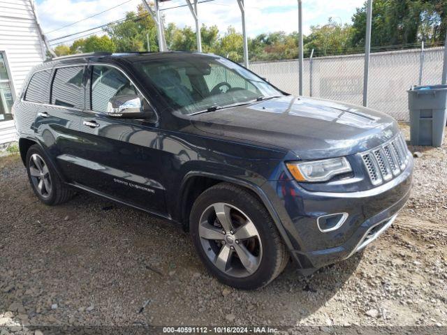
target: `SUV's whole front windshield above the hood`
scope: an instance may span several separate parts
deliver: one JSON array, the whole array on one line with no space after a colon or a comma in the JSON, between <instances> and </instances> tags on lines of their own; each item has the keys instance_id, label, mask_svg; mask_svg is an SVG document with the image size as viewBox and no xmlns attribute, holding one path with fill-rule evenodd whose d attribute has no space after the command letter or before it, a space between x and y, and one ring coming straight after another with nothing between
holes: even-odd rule
<instances>
[{"instance_id":1,"label":"SUV's whole front windshield above the hood","mask_svg":"<svg viewBox=\"0 0 447 335\"><path fill-rule=\"evenodd\" d=\"M133 65L182 114L283 96L268 82L228 59L191 56Z\"/></svg>"}]
</instances>

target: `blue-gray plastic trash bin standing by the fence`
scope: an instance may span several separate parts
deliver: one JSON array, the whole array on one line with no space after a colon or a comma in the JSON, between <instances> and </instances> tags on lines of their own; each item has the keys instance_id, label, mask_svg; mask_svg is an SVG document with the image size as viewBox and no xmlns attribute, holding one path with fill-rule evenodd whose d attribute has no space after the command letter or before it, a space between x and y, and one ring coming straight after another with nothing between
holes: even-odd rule
<instances>
[{"instance_id":1,"label":"blue-gray plastic trash bin standing by the fence","mask_svg":"<svg viewBox=\"0 0 447 335\"><path fill-rule=\"evenodd\" d=\"M415 86L407 92L411 144L441 147L447 121L447 85Z\"/></svg>"}]
</instances>

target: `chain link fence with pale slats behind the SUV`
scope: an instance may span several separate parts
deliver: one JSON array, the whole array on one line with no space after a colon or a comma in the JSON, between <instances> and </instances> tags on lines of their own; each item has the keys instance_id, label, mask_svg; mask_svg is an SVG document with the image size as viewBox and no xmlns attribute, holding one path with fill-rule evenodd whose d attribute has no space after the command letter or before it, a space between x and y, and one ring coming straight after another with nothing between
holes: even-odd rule
<instances>
[{"instance_id":1,"label":"chain link fence with pale slats behind the SUV","mask_svg":"<svg viewBox=\"0 0 447 335\"><path fill-rule=\"evenodd\" d=\"M375 52L369 61L368 107L409 121L406 90L440 84L444 47ZM364 54L304 60L303 94L362 104ZM422 72L420 68L422 66ZM290 94L298 94L298 60L256 62L250 69Z\"/></svg>"}]
</instances>

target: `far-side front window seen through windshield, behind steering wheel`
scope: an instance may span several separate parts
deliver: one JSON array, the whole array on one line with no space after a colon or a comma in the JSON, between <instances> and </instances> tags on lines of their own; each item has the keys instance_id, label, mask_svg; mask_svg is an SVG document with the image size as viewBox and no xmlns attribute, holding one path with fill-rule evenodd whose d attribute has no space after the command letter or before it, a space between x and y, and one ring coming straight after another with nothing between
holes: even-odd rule
<instances>
[{"instance_id":1,"label":"far-side front window seen through windshield, behind steering wheel","mask_svg":"<svg viewBox=\"0 0 447 335\"><path fill-rule=\"evenodd\" d=\"M224 89L248 89L254 93L258 92L253 84L244 80L240 75L217 64L211 64L210 74L204 75L203 79L210 91L217 87L218 84L228 83L229 86L222 85L222 87L225 87Z\"/></svg>"}]
</instances>

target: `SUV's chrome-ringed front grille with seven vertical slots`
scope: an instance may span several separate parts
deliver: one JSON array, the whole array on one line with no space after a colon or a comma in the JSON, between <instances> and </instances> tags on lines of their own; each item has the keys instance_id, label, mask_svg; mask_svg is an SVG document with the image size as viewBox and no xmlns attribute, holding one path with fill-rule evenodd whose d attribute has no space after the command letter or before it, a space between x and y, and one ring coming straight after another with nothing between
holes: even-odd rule
<instances>
[{"instance_id":1,"label":"SUV's chrome-ringed front grille with seven vertical slots","mask_svg":"<svg viewBox=\"0 0 447 335\"><path fill-rule=\"evenodd\" d=\"M409 162L409 151L402 135L380 147L361 154L369 180L374 186L383 184L400 174Z\"/></svg>"}]
</instances>

